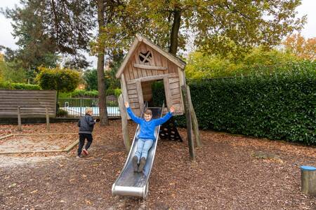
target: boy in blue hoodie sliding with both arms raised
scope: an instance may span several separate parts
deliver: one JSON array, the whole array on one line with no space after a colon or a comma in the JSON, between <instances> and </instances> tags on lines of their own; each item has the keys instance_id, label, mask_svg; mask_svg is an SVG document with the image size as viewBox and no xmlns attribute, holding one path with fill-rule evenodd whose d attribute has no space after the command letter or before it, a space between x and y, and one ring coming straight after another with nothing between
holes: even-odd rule
<instances>
[{"instance_id":1,"label":"boy in blue hoodie sliding with both arms raised","mask_svg":"<svg viewBox=\"0 0 316 210\"><path fill-rule=\"evenodd\" d=\"M134 172L143 172L143 169L146 164L146 159L148 155L148 151L152 147L154 140L154 129L158 125L162 125L166 123L174 112L174 107L171 106L169 113L167 113L163 118L158 118L152 120L152 111L150 109L146 109L144 113L144 119L138 118L134 115L131 107L129 107L129 103L125 102L125 107L131 119L140 125L140 133L138 134L138 142L137 142L137 150L136 154L133 157L133 169ZM139 165L138 165L139 164Z\"/></svg>"}]
</instances>

